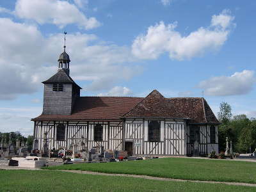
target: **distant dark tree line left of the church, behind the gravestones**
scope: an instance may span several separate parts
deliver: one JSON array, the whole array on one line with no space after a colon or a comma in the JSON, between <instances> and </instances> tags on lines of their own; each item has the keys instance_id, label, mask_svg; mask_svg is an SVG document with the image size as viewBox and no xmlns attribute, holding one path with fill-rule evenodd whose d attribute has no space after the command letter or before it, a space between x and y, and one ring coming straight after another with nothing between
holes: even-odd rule
<instances>
[{"instance_id":1,"label":"distant dark tree line left of the church, behind the gravestones","mask_svg":"<svg viewBox=\"0 0 256 192\"><path fill-rule=\"evenodd\" d=\"M10 142L11 139L11 142ZM0 132L0 143L13 143L16 144L16 140L23 141L28 143L28 147L32 148L33 146L33 136L22 136L19 131L16 132Z\"/></svg>"}]
</instances>

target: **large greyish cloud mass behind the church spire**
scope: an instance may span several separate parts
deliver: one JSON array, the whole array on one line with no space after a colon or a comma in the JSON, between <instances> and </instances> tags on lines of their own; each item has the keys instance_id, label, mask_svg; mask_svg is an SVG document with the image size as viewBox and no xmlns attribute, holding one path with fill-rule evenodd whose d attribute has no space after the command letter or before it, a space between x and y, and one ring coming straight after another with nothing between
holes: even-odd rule
<instances>
[{"instance_id":1,"label":"large greyish cloud mass behind the church spire","mask_svg":"<svg viewBox=\"0 0 256 192\"><path fill-rule=\"evenodd\" d=\"M45 37L36 26L4 18L0 18L0 26L0 99L36 92L42 87L40 82L57 71L63 34ZM67 52L70 74L75 80L86 80L86 90L108 90L141 70L131 64L134 58L129 47L102 42L95 35L68 34Z\"/></svg>"}]
</instances>

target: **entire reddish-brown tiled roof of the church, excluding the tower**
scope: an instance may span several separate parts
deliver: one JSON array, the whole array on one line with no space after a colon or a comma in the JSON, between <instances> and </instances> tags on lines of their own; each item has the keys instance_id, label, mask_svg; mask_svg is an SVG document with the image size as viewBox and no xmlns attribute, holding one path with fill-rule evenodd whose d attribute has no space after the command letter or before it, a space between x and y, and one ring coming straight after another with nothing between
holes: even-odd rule
<instances>
[{"instance_id":1,"label":"entire reddish-brown tiled roof of the church, excluding the tower","mask_svg":"<svg viewBox=\"0 0 256 192\"><path fill-rule=\"evenodd\" d=\"M219 124L202 97L78 97L72 115L40 115L32 120L120 120L120 118L185 118L189 123Z\"/></svg>"}]
</instances>

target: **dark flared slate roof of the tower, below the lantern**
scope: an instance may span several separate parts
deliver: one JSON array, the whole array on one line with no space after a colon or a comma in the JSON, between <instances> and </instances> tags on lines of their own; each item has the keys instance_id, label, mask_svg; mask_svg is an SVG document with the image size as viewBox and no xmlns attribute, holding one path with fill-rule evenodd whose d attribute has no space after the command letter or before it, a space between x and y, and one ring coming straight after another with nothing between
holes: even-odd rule
<instances>
[{"instance_id":1,"label":"dark flared slate roof of the tower, below the lantern","mask_svg":"<svg viewBox=\"0 0 256 192\"><path fill-rule=\"evenodd\" d=\"M75 83L75 81L70 76L68 76L68 74L65 72L65 70L58 70L58 72L56 74L54 74L54 76L47 79L46 81L43 81L42 83L44 83L44 84L46 84L46 83L72 83L75 86L77 86L79 89L81 89L81 87L79 85L77 85Z\"/></svg>"}]
</instances>

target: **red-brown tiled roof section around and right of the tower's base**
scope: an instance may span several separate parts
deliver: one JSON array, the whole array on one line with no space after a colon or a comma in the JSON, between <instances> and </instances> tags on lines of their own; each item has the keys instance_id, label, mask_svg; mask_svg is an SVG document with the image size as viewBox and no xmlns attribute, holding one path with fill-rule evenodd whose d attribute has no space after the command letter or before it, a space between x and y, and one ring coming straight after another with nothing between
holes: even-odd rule
<instances>
[{"instance_id":1,"label":"red-brown tiled roof section around and right of the tower's base","mask_svg":"<svg viewBox=\"0 0 256 192\"><path fill-rule=\"evenodd\" d=\"M40 115L33 120L120 120L143 97L78 97L72 115Z\"/></svg>"}]
</instances>

